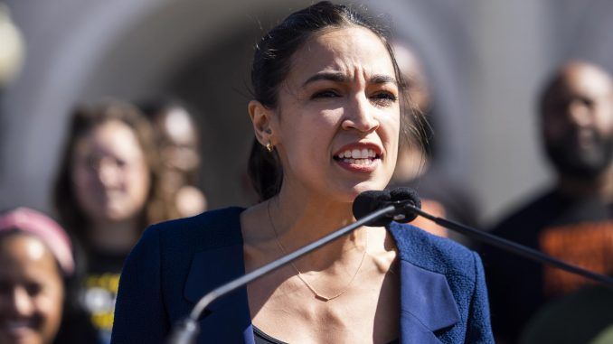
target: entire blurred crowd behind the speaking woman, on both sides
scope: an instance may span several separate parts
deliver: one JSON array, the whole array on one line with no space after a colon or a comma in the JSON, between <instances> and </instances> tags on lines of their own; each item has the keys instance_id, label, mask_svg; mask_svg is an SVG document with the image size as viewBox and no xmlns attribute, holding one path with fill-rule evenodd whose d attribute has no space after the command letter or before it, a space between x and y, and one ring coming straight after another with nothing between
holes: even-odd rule
<instances>
[{"instance_id":1,"label":"entire blurred crowd behind the speaking woman, on both sides","mask_svg":"<svg viewBox=\"0 0 613 344\"><path fill-rule=\"evenodd\" d=\"M394 50L408 106L442 120L427 61L408 42L394 42ZM537 110L555 183L486 229L613 276L610 72L564 63L543 85ZM207 209L197 117L175 100L75 106L53 188L56 211L15 205L0 215L0 343L108 343L121 268L143 230ZM402 143L390 187L411 186L426 211L478 227L471 194L439 171L436 127L416 125L426 139ZM498 342L613 342L611 289L425 219L415 224L480 251Z\"/></svg>"}]
</instances>

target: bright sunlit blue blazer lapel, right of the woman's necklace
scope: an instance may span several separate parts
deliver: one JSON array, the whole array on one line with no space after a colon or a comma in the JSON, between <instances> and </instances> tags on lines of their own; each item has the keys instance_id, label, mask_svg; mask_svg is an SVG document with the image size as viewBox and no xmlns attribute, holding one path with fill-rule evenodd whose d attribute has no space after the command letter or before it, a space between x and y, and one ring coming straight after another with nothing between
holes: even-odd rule
<instances>
[{"instance_id":1,"label":"bright sunlit blue blazer lapel, right of the woman's necklace","mask_svg":"<svg viewBox=\"0 0 613 344\"><path fill-rule=\"evenodd\" d=\"M433 332L459 320L445 276L401 260L401 342L440 343Z\"/></svg>"}]
</instances>

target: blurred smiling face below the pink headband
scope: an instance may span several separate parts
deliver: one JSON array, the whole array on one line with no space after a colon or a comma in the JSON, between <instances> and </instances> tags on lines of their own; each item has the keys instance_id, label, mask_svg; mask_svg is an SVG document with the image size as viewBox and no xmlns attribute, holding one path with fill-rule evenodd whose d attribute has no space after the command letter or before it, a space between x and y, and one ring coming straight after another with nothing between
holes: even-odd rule
<instances>
[{"instance_id":1,"label":"blurred smiling face below the pink headband","mask_svg":"<svg viewBox=\"0 0 613 344\"><path fill-rule=\"evenodd\" d=\"M59 268L39 239L0 239L0 343L51 343L63 300Z\"/></svg>"}]
</instances>

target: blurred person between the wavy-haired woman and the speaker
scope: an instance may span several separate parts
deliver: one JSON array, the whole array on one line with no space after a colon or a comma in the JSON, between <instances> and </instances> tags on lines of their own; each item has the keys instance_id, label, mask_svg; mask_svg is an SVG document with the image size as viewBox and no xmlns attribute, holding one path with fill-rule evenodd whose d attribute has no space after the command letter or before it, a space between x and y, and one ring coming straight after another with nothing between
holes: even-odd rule
<instances>
[{"instance_id":1,"label":"blurred person between the wavy-haired woman and the speaker","mask_svg":"<svg viewBox=\"0 0 613 344\"><path fill-rule=\"evenodd\" d=\"M200 135L190 111L176 101L150 101L139 107L156 132L162 163L160 184L173 211L169 216L186 218L203 212L206 198L198 188Z\"/></svg>"}]
</instances>

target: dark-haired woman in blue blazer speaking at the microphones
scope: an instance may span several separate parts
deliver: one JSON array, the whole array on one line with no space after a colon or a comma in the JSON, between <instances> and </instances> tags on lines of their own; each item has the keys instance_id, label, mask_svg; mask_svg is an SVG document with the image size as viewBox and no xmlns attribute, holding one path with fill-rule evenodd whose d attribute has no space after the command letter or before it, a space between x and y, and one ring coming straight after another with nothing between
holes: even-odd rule
<instances>
[{"instance_id":1,"label":"dark-haired woman in blue blazer speaking at the microphones","mask_svg":"<svg viewBox=\"0 0 613 344\"><path fill-rule=\"evenodd\" d=\"M376 26L328 2L291 14L259 42L252 82L262 202L149 228L114 342L162 342L204 293L353 222L354 198L390 181L402 82ZM400 224L359 228L212 303L200 325L202 343L493 341L478 256Z\"/></svg>"}]
</instances>

